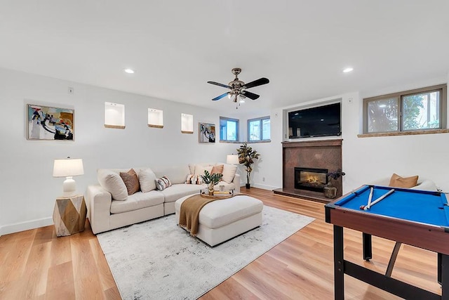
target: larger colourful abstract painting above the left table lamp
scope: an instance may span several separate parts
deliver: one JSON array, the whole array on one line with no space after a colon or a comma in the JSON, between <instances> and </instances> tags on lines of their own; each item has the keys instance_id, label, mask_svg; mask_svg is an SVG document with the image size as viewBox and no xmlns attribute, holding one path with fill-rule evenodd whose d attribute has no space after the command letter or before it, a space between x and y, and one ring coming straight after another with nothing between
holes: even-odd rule
<instances>
[{"instance_id":1,"label":"larger colourful abstract painting above the left table lamp","mask_svg":"<svg viewBox=\"0 0 449 300\"><path fill-rule=\"evenodd\" d=\"M27 140L74 140L74 110L27 104Z\"/></svg>"}]
</instances>

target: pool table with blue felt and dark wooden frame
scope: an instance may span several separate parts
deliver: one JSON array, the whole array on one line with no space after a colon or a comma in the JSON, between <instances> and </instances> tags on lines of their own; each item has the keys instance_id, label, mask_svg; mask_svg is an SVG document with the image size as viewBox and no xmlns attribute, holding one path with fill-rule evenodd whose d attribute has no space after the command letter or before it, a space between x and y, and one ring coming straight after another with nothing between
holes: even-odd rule
<instances>
[{"instance_id":1,"label":"pool table with blue felt and dark wooden frame","mask_svg":"<svg viewBox=\"0 0 449 300\"><path fill-rule=\"evenodd\" d=\"M373 187L372 202L394 189L370 209L368 203ZM444 193L362 185L360 188L326 204L326 222L334 230L335 299L344 299L344 274L363 280L404 299L449 299L449 206ZM397 245L410 244L438 253L438 282L441 296L425 289L391 278L344 260L343 228L363 233L363 259L372 258L371 235L396 241L391 261L396 259ZM390 268L390 264L389 264ZM392 266L391 266L392 268Z\"/></svg>"}]
</instances>

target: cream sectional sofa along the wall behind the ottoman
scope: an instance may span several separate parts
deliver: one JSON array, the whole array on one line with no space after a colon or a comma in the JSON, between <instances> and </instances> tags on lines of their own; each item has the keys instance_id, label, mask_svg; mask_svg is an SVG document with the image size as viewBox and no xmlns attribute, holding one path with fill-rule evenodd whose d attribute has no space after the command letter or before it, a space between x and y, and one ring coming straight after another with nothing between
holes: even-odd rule
<instances>
[{"instance_id":1,"label":"cream sectional sofa along the wall behind the ottoman","mask_svg":"<svg viewBox=\"0 0 449 300\"><path fill-rule=\"evenodd\" d=\"M215 188L240 193L240 176L231 164L185 164L176 167L137 167L128 169L98 169L98 182L86 192L88 218L94 234L128 226L175 213L175 201L186 195L200 193L205 184L187 184L187 178L203 174L204 169L223 165L223 181ZM120 173L133 169L140 181L140 191L128 195ZM166 176L171 185L156 189L156 178ZM123 190L124 189L124 190Z\"/></svg>"}]
</instances>

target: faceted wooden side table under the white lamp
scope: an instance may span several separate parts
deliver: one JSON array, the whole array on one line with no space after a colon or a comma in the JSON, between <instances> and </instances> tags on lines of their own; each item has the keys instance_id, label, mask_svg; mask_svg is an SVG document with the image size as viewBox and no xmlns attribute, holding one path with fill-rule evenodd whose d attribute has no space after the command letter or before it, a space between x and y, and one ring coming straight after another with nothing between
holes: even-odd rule
<instances>
[{"instance_id":1,"label":"faceted wooden side table under the white lamp","mask_svg":"<svg viewBox=\"0 0 449 300\"><path fill-rule=\"evenodd\" d=\"M86 214L86 202L83 195L56 199L53 210L56 235L62 237L83 231Z\"/></svg>"}]
</instances>

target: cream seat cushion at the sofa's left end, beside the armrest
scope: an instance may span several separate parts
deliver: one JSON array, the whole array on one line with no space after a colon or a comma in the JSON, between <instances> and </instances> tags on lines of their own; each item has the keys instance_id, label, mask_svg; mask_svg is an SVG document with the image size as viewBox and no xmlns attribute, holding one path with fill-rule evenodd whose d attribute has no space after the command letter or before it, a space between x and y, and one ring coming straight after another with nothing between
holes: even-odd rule
<instances>
[{"instance_id":1,"label":"cream seat cushion at the sofa's left end, beside the armrest","mask_svg":"<svg viewBox=\"0 0 449 300\"><path fill-rule=\"evenodd\" d=\"M126 211L135 211L145 207L153 207L154 205L163 203L163 195L157 190L148 193L134 193L128 196L125 201L112 201L111 214L120 214Z\"/></svg>"}]
</instances>

